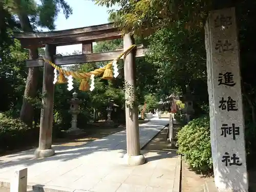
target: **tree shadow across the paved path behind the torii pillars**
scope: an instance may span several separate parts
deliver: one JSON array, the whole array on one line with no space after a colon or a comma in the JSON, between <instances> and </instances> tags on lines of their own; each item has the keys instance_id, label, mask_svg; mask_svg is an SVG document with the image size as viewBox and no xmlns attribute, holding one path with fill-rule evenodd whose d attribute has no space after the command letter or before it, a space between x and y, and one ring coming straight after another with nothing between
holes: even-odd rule
<instances>
[{"instance_id":1,"label":"tree shadow across the paved path behind the torii pillars","mask_svg":"<svg viewBox=\"0 0 256 192\"><path fill-rule=\"evenodd\" d=\"M149 121L140 125L140 145L144 146L150 141L166 124L164 120ZM35 159L35 149L19 152L16 154L0 157L0 173L6 171L5 168L15 165L31 166L36 163L44 163L46 161L70 161L72 159L81 158L102 151L118 151L120 157L126 153L126 132L121 131L108 137L104 137L92 142L86 142L79 146L63 146L53 145L56 152L55 156ZM158 158L161 158L159 156ZM3 169L4 168L4 169Z\"/></svg>"}]
</instances>

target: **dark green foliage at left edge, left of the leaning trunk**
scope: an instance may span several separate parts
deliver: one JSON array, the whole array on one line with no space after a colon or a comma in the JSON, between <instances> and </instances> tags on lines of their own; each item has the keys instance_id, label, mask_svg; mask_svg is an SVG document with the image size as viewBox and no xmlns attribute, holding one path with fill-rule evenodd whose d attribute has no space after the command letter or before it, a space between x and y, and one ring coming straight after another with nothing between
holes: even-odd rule
<instances>
[{"instance_id":1,"label":"dark green foliage at left edge, left of the leaning trunk","mask_svg":"<svg viewBox=\"0 0 256 192\"><path fill-rule=\"evenodd\" d=\"M15 108L22 99L19 93L24 91L27 76L24 62L27 52L20 48L18 40L11 37L12 30L18 25L2 6L0 3L0 12L3 14L3 20L0 20L0 99L5 102L1 103L0 112Z\"/></svg>"}]
</instances>

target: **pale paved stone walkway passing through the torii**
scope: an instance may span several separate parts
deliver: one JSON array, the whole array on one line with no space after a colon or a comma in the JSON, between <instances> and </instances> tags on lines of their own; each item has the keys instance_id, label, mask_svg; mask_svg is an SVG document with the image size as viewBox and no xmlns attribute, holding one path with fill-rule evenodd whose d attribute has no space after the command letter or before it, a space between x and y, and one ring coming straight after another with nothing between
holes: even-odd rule
<instances>
[{"instance_id":1,"label":"pale paved stone walkway passing through the torii","mask_svg":"<svg viewBox=\"0 0 256 192\"><path fill-rule=\"evenodd\" d=\"M140 125L143 147L168 123L153 118ZM0 186L9 187L13 173L28 167L28 184L34 191L178 192L180 157L170 152L142 151L147 163L123 164L125 131L81 146L53 146L56 155L34 159L34 150L0 157ZM40 189L40 191L42 191Z\"/></svg>"}]
</instances>

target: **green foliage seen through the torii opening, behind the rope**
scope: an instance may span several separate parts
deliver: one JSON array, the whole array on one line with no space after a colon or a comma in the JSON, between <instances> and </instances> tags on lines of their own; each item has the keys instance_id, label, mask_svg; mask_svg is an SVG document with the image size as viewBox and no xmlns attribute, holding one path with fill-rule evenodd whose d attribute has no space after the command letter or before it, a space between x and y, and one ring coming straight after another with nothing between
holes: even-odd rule
<instances>
[{"instance_id":1,"label":"green foliage seen through the torii opening, behind the rope","mask_svg":"<svg viewBox=\"0 0 256 192\"><path fill-rule=\"evenodd\" d=\"M122 41L119 39L113 41L102 41L94 46L96 52L104 52L114 50L115 47L120 47ZM79 54L79 53L74 53ZM68 67L69 70L89 72L105 65L106 62L84 63L82 65L74 65ZM122 66L122 65L121 65ZM120 68L120 65L119 65ZM121 69L122 70L122 69ZM121 75L120 75L121 76ZM114 100L121 110L124 109L124 91L122 76L115 80L108 81L101 77L95 78L95 89L91 92L81 92L78 90L79 80L74 81L74 90L78 93L78 98L82 100L80 105L80 114L78 115L78 127L81 129L87 126L88 122L97 121L99 118L106 117L106 106L110 100ZM89 82L90 83L90 82ZM69 100L72 97L72 92L67 90L66 84L57 85L55 88L55 102L54 102L54 122L55 126L66 130L70 127L71 115L69 114ZM62 109L62 110L60 110ZM99 115L95 116L95 113ZM119 114L114 113L112 117L115 118ZM96 119L95 119L96 118ZM120 117L119 119L122 120ZM124 120L124 119L123 119Z\"/></svg>"}]
</instances>

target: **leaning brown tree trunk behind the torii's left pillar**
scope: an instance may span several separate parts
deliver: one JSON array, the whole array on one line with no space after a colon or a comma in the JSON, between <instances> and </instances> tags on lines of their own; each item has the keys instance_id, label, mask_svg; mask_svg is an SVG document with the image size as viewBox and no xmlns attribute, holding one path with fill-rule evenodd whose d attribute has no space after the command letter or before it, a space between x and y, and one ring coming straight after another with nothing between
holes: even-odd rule
<instances>
[{"instance_id":1,"label":"leaning brown tree trunk behind the torii's left pillar","mask_svg":"<svg viewBox=\"0 0 256 192\"><path fill-rule=\"evenodd\" d=\"M19 11L18 17L19 17L20 25L22 26L23 31L33 32L33 28L30 25L30 20L27 13L23 11ZM36 59L36 58L38 58L37 48L30 49L29 59ZM31 105L31 103L28 101L28 98L36 97L38 75L39 75L39 68L29 68L26 88L25 88L24 97L23 97L23 105L19 114L20 119L22 119L30 127L32 127L34 108Z\"/></svg>"}]
</instances>

